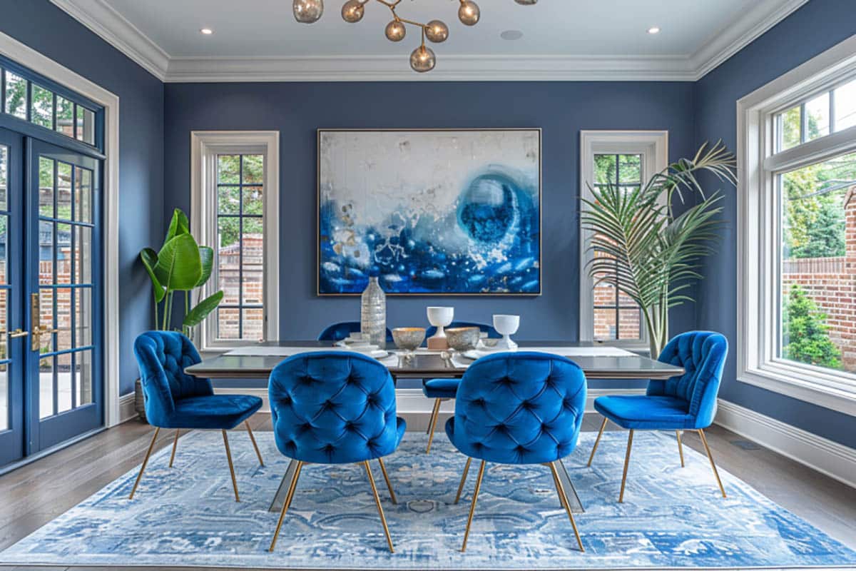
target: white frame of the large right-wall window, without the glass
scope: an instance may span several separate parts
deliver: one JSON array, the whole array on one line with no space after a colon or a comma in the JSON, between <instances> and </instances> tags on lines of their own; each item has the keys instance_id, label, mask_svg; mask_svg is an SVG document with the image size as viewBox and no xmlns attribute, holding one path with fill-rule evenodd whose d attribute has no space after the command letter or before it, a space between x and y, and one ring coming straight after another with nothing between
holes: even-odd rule
<instances>
[{"instance_id":1,"label":"white frame of the large right-wall window, without the glass","mask_svg":"<svg viewBox=\"0 0 856 571\"><path fill-rule=\"evenodd\" d=\"M737 102L737 378L856 415L856 378L776 357L780 197L774 173L856 151L856 127L774 154L776 114L856 78L856 35Z\"/></svg>"}]
</instances>

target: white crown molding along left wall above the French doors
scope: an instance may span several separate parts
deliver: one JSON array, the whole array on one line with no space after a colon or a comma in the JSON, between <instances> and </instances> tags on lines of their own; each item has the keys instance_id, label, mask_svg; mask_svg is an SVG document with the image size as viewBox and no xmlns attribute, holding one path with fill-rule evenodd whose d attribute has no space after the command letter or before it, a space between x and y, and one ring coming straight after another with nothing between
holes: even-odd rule
<instances>
[{"instance_id":1,"label":"white crown molding along left wall above the French doors","mask_svg":"<svg viewBox=\"0 0 856 571\"><path fill-rule=\"evenodd\" d=\"M158 80L167 79L169 54L104 0L51 0L51 3L140 64Z\"/></svg>"}]
</instances>

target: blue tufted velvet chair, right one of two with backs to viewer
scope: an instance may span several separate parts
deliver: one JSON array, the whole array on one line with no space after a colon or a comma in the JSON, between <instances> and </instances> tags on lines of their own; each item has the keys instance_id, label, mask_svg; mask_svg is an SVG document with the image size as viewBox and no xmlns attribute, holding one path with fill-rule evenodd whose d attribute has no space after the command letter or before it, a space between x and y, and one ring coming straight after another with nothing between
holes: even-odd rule
<instances>
[{"instance_id":1,"label":"blue tufted velvet chair, right one of two with backs to viewer","mask_svg":"<svg viewBox=\"0 0 856 571\"><path fill-rule=\"evenodd\" d=\"M467 538L479 499L486 462L544 464L550 467L562 507L584 551L556 461L574 451L586 412L586 375L574 361L545 353L499 353L477 360L461 379L455 416L446 433L467 455L455 503L467 481L470 462L481 460L467 518Z\"/></svg>"}]
</instances>

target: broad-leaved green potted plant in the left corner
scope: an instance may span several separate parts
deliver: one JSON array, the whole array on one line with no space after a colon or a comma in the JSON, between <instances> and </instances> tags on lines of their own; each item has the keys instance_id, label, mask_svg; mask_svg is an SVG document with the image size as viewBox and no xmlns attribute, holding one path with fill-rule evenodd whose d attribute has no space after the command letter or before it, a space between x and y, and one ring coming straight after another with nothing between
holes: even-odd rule
<instances>
[{"instance_id":1,"label":"broad-leaved green potted plant in the left corner","mask_svg":"<svg viewBox=\"0 0 856 571\"><path fill-rule=\"evenodd\" d=\"M154 326L160 330L173 327L173 302L175 294L183 294L184 315L181 319L181 331L190 336L193 328L220 305L223 290L200 300L191 307L193 290L202 288L211 277L214 265L214 250L199 246L190 234L187 215L176 208L169 222L166 238L158 252L150 247L140 250L140 260L152 281L152 300L154 301ZM137 379L134 406L140 419L146 419L143 405L140 379Z\"/></svg>"}]
</instances>

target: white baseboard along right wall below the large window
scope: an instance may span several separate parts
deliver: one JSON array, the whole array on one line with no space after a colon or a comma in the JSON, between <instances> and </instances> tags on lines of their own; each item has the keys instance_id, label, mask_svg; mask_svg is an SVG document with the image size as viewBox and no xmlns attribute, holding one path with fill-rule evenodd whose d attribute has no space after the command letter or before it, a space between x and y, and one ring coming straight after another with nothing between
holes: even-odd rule
<instances>
[{"instance_id":1,"label":"white baseboard along right wall below the large window","mask_svg":"<svg viewBox=\"0 0 856 571\"><path fill-rule=\"evenodd\" d=\"M717 425L856 488L856 449L720 399Z\"/></svg>"}]
</instances>

